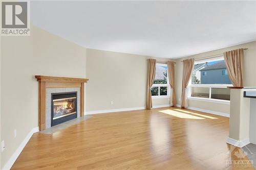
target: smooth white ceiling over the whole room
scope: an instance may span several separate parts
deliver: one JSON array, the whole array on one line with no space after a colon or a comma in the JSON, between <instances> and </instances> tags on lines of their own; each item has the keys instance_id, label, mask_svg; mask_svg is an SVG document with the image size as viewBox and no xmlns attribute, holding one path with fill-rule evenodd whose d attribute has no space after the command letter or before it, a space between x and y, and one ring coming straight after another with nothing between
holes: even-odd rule
<instances>
[{"instance_id":1,"label":"smooth white ceiling over the whole room","mask_svg":"<svg viewBox=\"0 0 256 170\"><path fill-rule=\"evenodd\" d=\"M256 1L32 1L31 21L87 48L180 58L256 40Z\"/></svg>"}]
</instances>

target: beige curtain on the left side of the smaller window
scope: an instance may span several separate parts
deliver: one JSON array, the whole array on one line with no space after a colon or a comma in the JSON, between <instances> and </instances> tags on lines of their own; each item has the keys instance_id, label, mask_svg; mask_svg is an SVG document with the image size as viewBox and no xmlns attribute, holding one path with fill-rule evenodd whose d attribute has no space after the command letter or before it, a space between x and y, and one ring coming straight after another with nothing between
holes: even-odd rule
<instances>
[{"instance_id":1,"label":"beige curtain on the left side of the smaller window","mask_svg":"<svg viewBox=\"0 0 256 170\"><path fill-rule=\"evenodd\" d=\"M154 83L156 76L156 60L148 59L147 60L147 95L146 95L146 109L152 108L151 100L151 87Z\"/></svg>"}]
</instances>

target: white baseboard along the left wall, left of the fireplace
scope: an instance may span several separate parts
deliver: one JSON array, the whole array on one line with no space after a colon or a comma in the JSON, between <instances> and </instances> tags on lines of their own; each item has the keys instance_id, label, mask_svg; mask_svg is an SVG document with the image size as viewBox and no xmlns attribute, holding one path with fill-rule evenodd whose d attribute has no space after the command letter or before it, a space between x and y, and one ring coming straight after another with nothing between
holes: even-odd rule
<instances>
[{"instance_id":1,"label":"white baseboard along the left wall, left of the fireplace","mask_svg":"<svg viewBox=\"0 0 256 170\"><path fill-rule=\"evenodd\" d=\"M24 147L26 146L26 144L28 143L29 139L31 138L31 136L35 133L39 131L39 127L33 128L29 134L26 136L26 138L22 141L22 143L20 143L19 147L17 148L17 150L14 152L14 154L11 156L11 158L9 159L9 161L5 164L5 166L3 167L2 170L9 170L11 169L13 163L16 161L16 159L18 158L19 154L22 152L22 150L24 149Z\"/></svg>"}]
</instances>

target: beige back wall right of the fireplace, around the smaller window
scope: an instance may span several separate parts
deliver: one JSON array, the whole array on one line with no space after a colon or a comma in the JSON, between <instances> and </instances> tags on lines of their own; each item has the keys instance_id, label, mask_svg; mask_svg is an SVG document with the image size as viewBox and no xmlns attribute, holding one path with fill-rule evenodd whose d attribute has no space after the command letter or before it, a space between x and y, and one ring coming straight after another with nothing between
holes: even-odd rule
<instances>
[{"instance_id":1,"label":"beige back wall right of the fireplace, around the smaller window","mask_svg":"<svg viewBox=\"0 0 256 170\"><path fill-rule=\"evenodd\" d=\"M148 58L87 49L86 111L144 107ZM153 99L153 106L167 104L168 99Z\"/></svg>"}]
</instances>

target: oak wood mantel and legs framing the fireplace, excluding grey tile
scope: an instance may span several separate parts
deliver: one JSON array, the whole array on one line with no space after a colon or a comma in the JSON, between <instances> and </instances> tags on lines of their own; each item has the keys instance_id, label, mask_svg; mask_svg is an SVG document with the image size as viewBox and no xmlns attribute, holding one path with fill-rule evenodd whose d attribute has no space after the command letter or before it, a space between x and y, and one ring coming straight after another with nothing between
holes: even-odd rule
<instances>
[{"instance_id":1,"label":"oak wood mantel and legs framing the fireplace, excluding grey tile","mask_svg":"<svg viewBox=\"0 0 256 170\"><path fill-rule=\"evenodd\" d=\"M80 116L83 116L84 106L84 83L89 79L68 78L68 77L50 77L50 76L35 76L39 84L38 95L38 126L39 130L46 129L46 89L47 88L80 88Z\"/></svg>"}]
</instances>

